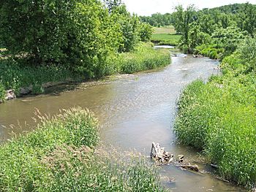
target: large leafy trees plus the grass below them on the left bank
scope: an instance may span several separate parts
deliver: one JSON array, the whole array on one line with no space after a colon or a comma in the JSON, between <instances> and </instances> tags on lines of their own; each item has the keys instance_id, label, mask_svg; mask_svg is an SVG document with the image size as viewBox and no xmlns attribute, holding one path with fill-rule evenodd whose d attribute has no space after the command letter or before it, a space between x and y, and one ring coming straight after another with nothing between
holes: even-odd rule
<instances>
[{"instance_id":1,"label":"large leafy trees plus the grass below them on the left bank","mask_svg":"<svg viewBox=\"0 0 256 192\"><path fill-rule=\"evenodd\" d=\"M0 45L5 48L0 50L0 100L4 89L15 89L19 95L20 88L32 87L33 93L42 93L44 82L87 80L170 64L167 52L158 55L143 45L151 39L151 26L131 15L120 0L4 0L0 17ZM136 69L129 70L131 63Z\"/></svg>"}]
</instances>

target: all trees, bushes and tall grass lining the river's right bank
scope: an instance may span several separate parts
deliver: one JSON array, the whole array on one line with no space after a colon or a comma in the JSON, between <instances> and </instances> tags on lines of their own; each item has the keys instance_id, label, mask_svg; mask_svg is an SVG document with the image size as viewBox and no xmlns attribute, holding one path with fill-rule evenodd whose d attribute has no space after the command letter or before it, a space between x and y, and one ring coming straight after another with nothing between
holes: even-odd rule
<instances>
[{"instance_id":1,"label":"all trees, bushes and tall grass lining the river's right bank","mask_svg":"<svg viewBox=\"0 0 256 192\"><path fill-rule=\"evenodd\" d=\"M175 124L178 141L203 150L209 161L219 166L217 172L222 177L254 188L256 7L235 4L199 12L193 7L177 10L181 22L190 20L186 28L179 26L183 34L181 47L221 58L223 72L207 83L197 80L184 89ZM211 24L206 27L206 23ZM198 38L197 34L202 35Z\"/></svg>"}]
</instances>

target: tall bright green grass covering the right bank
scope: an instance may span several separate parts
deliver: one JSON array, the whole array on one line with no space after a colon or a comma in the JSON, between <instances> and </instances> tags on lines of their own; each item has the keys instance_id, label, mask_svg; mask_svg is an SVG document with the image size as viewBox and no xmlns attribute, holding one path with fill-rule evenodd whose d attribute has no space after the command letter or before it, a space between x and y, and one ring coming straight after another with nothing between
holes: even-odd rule
<instances>
[{"instance_id":1,"label":"tall bright green grass covering the right bank","mask_svg":"<svg viewBox=\"0 0 256 192\"><path fill-rule=\"evenodd\" d=\"M178 101L178 141L203 150L217 172L249 188L256 183L254 43L222 61L223 75L192 82Z\"/></svg>"}]
</instances>

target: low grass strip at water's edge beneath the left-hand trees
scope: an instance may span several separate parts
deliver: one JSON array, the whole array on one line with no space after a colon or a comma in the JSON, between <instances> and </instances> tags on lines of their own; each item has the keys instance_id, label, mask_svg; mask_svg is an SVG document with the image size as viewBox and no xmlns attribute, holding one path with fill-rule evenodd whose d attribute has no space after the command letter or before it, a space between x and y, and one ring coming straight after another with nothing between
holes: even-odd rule
<instances>
[{"instance_id":1,"label":"low grass strip at water's edge beneath the left-hand trees","mask_svg":"<svg viewBox=\"0 0 256 192\"><path fill-rule=\"evenodd\" d=\"M140 72L147 69L170 64L168 50L156 50L152 44L140 44L130 53L121 53L114 58L108 69L101 74L124 74ZM80 82L89 80L83 74L75 73L65 66L26 66L20 64L21 60L4 58L0 60L0 100L6 100L6 91L14 90L16 96L25 94L44 93L45 88L64 82ZM106 61L107 62L107 61ZM95 79L99 77L94 77Z\"/></svg>"}]
</instances>

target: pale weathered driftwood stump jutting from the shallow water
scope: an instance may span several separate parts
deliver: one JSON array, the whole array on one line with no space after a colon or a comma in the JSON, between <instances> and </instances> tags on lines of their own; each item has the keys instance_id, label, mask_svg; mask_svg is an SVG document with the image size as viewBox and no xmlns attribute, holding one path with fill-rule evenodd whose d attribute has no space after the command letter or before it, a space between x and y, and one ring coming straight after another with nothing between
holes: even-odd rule
<instances>
[{"instance_id":1,"label":"pale weathered driftwood stump jutting from the shallow water","mask_svg":"<svg viewBox=\"0 0 256 192\"><path fill-rule=\"evenodd\" d=\"M151 158L154 158L157 164L170 164L173 161L173 154L166 152L164 147L160 147L159 143L152 142Z\"/></svg>"}]
</instances>

